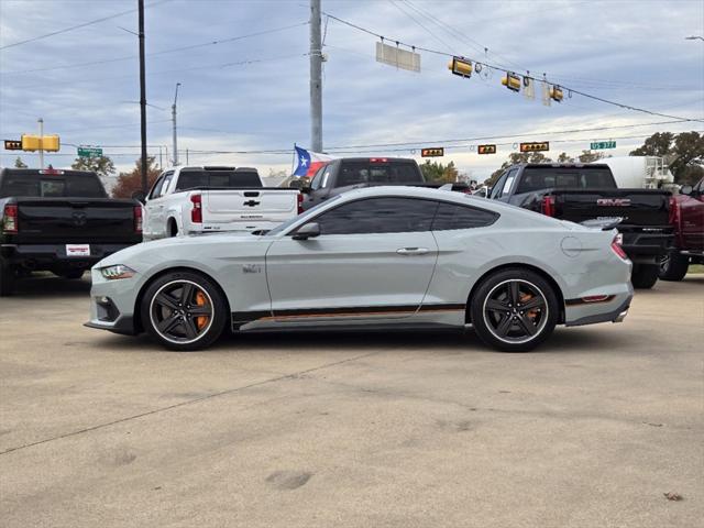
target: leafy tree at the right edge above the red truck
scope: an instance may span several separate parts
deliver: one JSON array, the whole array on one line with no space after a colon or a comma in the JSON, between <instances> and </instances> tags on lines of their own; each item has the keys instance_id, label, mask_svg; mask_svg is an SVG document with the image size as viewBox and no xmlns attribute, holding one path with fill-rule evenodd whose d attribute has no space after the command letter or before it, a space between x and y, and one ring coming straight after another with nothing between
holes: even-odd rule
<instances>
[{"instance_id":1,"label":"leafy tree at the right edge above the red truck","mask_svg":"<svg viewBox=\"0 0 704 528\"><path fill-rule=\"evenodd\" d=\"M693 184L704 174L704 134L657 132L630 155L663 157L675 183Z\"/></svg>"}]
</instances>

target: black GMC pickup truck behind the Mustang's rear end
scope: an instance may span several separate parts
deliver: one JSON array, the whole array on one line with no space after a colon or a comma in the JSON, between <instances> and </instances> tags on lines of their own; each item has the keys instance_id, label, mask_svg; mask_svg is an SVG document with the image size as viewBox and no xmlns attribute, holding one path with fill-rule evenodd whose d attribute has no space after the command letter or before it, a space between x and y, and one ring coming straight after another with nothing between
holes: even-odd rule
<instances>
[{"instance_id":1,"label":"black GMC pickup truck behind the Mustang's rear end","mask_svg":"<svg viewBox=\"0 0 704 528\"><path fill-rule=\"evenodd\" d=\"M508 167L496 180L490 198L583 222L623 218L618 232L634 263L636 288L651 288L659 263L673 243L671 194L657 189L619 189L604 164L521 164Z\"/></svg>"}]
</instances>

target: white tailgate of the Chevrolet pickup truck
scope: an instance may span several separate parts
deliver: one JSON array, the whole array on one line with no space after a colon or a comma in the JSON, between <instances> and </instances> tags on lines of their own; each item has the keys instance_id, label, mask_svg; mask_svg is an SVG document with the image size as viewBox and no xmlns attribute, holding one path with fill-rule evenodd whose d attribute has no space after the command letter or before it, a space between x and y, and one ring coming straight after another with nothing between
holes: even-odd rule
<instances>
[{"instance_id":1,"label":"white tailgate of the Chevrolet pickup truck","mask_svg":"<svg viewBox=\"0 0 704 528\"><path fill-rule=\"evenodd\" d=\"M204 191L204 224L279 223L298 213L298 191L286 188Z\"/></svg>"}]
</instances>

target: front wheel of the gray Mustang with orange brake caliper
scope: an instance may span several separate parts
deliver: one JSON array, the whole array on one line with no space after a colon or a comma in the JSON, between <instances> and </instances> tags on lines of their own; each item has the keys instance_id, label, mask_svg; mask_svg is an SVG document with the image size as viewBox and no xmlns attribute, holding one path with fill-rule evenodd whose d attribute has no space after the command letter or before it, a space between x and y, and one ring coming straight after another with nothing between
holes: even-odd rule
<instances>
[{"instance_id":1,"label":"front wheel of the gray Mustang with orange brake caliper","mask_svg":"<svg viewBox=\"0 0 704 528\"><path fill-rule=\"evenodd\" d=\"M146 288L141 301L142 326L169 350L201 350L212 344L230 319L218 286L194 272L172 272Z\"/></svg>"}]
</instances>

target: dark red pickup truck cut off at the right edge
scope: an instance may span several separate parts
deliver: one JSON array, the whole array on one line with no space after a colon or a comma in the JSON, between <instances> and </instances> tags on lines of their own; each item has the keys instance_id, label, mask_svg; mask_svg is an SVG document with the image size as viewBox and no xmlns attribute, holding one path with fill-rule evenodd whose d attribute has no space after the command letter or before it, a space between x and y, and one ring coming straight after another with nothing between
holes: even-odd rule
<instances>
[{"instance_id":1,"label":"dark red pickup truck cut off at the right edge","mask_svg":"<svg viewBox=\"0 0 704 528\"><path fill-rule=\"evenodd\" d=\"M674 249L661 261L660 278L682 280L690 264L704 264L704 178L684 185L670 204Z\"/></svg>"}]
</instances>

